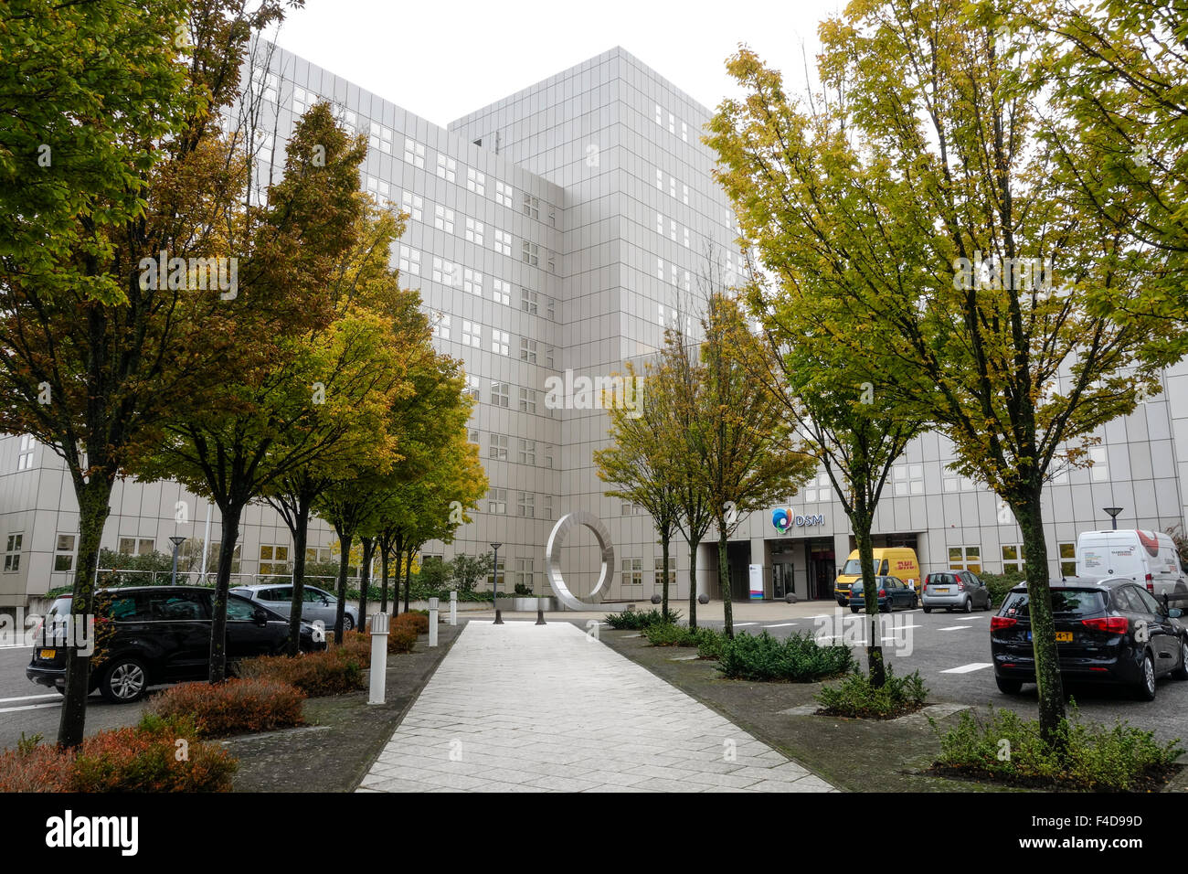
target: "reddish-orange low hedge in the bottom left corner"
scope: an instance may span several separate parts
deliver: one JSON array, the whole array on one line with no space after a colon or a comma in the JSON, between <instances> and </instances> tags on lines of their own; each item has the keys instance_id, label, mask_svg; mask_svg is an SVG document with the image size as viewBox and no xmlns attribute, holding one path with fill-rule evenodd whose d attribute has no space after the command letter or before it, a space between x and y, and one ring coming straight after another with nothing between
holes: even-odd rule
<instances>
[{"instance_id":1,"label":"reddish-orange low hedge in the bottom left corner","mask_svg":"<svg viewBox=\"0 0 1188 874\"><path fill-rule=\"evenodd\" d=\"M166 719L100 731L70 750L31 738L0 754L0 792L230 792L235 760L196 738L192 723Z\"/></svg>"}]
</instances>

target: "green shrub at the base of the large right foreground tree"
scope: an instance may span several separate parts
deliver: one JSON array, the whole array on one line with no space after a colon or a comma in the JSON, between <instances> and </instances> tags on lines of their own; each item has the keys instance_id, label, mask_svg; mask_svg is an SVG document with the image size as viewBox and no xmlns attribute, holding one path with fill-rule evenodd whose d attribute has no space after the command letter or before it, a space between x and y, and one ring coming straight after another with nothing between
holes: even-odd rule
<instances>
[{"instance_id":1,"label":"green shrub at the base of the large right foreground tree","mask_svg":"<svg viewBox=\"0 0 1188 874\"><path fill-rule=\"evenodd\" d=\"M1073 704L1056 743L1040 736L1040 723L1012 710L990 708L985 719L966 711L941 734L940 773L1048 788L1133 792L1163 782L1183 752L1180 741L1159 743L1154 731L1129 722L1113 728L1087 725Z\"/></svg>"}]
</instances>

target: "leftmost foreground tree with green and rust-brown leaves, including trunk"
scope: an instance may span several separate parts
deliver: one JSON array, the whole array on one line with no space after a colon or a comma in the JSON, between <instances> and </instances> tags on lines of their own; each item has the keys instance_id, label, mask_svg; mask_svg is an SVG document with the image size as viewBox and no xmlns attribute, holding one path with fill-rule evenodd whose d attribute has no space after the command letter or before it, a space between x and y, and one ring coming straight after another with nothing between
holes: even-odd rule
<instances>
[{"instance_id":1,"label":"leftmost foreground tree with green and rust-brown leaves, including trunk","mask_svg":"<svg viewBox=\"0 0 1188 874\"><path fill-rule=\"evenodd\" d=\"M160 252L185 264L244 254L228 229L241 221L246 163L219 117L238 96L248 39L283 4L27 0L0 15L0 430L32 434L65 461L81 622L115 478L165 422L216 403L229 370L266 360L270 323L292 306L261 279L267 259L239 271L252 295L144 268ZM273 231L274 257L297 245L291 226ZM89 667L68 648L63 746L82 741Z\"/></svg>"}]
</instances>

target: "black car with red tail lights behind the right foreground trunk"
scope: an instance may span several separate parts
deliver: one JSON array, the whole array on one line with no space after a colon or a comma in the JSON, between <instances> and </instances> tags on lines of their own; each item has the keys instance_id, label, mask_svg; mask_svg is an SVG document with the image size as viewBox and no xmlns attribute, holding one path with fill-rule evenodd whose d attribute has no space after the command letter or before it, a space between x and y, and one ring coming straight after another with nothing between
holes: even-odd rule
<instances>
[{"instance_id":1,"label":"black car with red tail lights behind the right foreground trunk","mask_svg":"<svg viewBox=\"0 0 1188 874\"><path fill-rule=\"evenodd\" d=\"M1155 698L1156 678L1188 679L1188 629L1178 608L1164 608L1132 579L1073 577L1051 585L1060 673L1066 683L1114 683ZM990 620L999 690L1035 683L1030 596L1015 586Z\"/></svg>"}]
</instances>

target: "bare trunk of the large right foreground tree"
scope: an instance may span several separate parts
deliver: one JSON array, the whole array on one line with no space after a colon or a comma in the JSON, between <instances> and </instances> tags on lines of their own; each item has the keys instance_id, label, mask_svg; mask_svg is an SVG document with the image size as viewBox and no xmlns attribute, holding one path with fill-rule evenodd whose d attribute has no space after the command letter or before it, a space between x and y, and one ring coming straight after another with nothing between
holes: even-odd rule
<instances>
[{"instance_id":1,"label":"bare trunk of the large right foreground tree","mask_svg":"<svg viewBox=\"0 0 1188 874\"><path fill-rule=\"evenodd\" d=\"M1017 502L1007 501L1023 534L1023 559L1028 567L1028 610L1031 616L1031 648L1040 687L1040 734L1049 744L1057 741L1064 719L1064 684L1056 653L1056 624L1048 585L1048 543L1043 535L1041 488Z\"/></svg>"}]
</instances>

